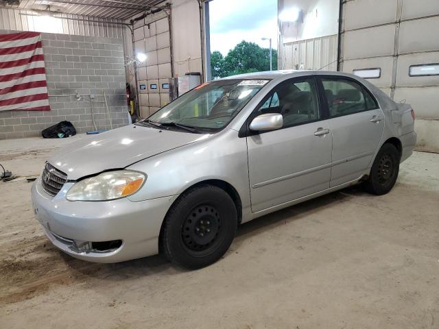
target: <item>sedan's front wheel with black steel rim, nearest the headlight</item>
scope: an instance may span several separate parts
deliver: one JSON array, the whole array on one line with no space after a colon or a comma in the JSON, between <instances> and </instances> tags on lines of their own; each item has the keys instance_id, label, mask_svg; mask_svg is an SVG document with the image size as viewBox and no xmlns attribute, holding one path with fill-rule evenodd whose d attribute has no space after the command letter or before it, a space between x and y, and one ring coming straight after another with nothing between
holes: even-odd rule
<instances>
[{"instance_id":1,"label":"sedan's front wheel with black steel rim, nearest the headlight","mask_svg":"<svg viewBox=\"0 0 439 329\"><path fill-rule=\"evenodd\" d=\"M203 184L171 206L163 223L161 247L171 262L199 269L226 253L236 230L233 199L221 188Z\"/></svg>"}]
</instances>

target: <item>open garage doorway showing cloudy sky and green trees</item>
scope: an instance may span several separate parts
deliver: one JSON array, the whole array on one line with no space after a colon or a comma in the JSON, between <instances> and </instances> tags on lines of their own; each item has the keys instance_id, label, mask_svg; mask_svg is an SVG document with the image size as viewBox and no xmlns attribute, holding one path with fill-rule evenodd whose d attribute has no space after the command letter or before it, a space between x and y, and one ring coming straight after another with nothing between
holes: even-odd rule
<instances>
[{"instance_id":1,"label":"open garage doorway showing cloudy sky and green trees","mask_svg":"<svg viewBox=\"0 0 439 329\"><path fill-rule=\"evenodd\" d=\"M205 10L209 80L270 71L270 53L271 69L278 69L277 0L214 0Z\"/></svg>"}]
</instances>

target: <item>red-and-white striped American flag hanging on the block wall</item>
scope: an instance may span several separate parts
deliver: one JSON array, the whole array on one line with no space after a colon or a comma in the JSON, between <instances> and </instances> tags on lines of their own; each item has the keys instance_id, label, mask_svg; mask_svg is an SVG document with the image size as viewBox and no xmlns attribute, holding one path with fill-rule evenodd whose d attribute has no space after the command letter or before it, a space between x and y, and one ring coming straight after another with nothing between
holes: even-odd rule
<instances>
[{"instance_id":1,"label":"red-and-white striped American flag hanging on the block wall","mask_svg":"<svg viewBox=\"0 0 439 329\"><path fill-rule=\"evenodd\" d=\"M41 36L0 35L0 111L50 110Z\"/></svg>"}]
</instances>

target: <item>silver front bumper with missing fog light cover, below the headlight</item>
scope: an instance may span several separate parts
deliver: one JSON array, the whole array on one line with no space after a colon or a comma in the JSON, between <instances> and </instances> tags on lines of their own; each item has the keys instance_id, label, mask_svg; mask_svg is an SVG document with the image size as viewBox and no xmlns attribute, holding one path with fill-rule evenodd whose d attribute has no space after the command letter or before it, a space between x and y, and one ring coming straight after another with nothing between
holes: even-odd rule
<instances>
[{"instance_id":1,"label":"silver front bumper with missing fog light cover, below the headlight","mask_svg":"<svg viewBox=\"0 0 439 329\"><path fill-rule=\"evenodd\" d=\"M32 186L34 212L48 239L67 254L97 263L117 263L158 253L158 235L166 212L176 199L141 202L128 198L105 202L71 202L67 182L55 196L40 178Z\"/></svg>"}]
</instances>

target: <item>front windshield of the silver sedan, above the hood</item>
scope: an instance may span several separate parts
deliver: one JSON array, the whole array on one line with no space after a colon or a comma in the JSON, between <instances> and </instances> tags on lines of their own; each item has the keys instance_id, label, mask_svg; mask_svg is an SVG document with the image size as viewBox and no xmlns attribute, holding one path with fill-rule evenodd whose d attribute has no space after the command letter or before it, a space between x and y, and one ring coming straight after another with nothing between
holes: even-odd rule
<instances>
[{"instance_id":1,"label":"front windshield of the silver sedan, above the hood","mask_svg":"<svg viewBox=\"0 0 439 329\"><path fill-rule=\"evenodd\" d=\"M225 127L268 80L206 82L178 97L145 120L158 126L215 132Z\"/></svg>"}]
</instances>

